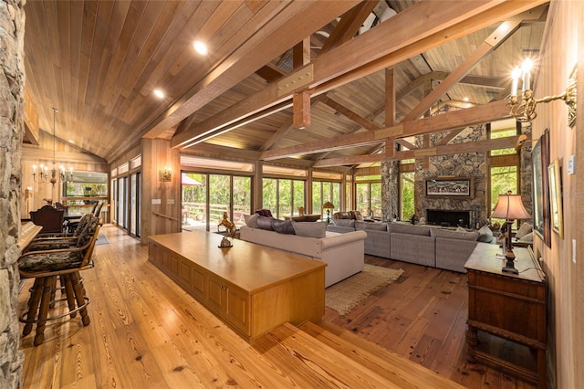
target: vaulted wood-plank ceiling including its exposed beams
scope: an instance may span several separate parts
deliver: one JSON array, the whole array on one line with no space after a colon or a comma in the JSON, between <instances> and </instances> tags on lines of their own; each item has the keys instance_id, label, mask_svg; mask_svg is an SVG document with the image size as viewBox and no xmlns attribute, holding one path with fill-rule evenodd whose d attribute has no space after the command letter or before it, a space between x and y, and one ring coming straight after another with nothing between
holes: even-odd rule
<instances>
[{"instance_id":1,"label":"vaulted wood-plank ceiling including its exposed beams","mask_svg":"<svg viewBox=\"0 0 584 389\"><path fill-rule=\"evenodd\" d=\"M374 162L388 138L505 116L488 103L508 94L511 68L537 57L546 3L29 1L26 89L42 131L53 132L55 107L57 138L109 162L142 137L187 153ZM513 20L512 33L499 27ZM302 130L295 91L310 99ZM409 123L443 104L484 104L484 115ZM391 127L400 121L410 132Z\"/></svg>"}]
</instances>

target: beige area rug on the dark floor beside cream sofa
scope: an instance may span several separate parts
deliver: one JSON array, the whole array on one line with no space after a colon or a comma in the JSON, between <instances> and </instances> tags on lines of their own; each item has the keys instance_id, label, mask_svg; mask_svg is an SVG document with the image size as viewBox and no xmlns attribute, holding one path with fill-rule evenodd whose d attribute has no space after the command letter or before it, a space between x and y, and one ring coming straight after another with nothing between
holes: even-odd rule
<instances>
[{"instance_id":1,"label":"beige area rug on the dark floor beside cream sofa","mask_svg":"<svg viewBox=\"0 0 584 389\"><path fill-rule=\"evenodd\" d=\"M363 271L325 289L325 305L345 315L370 294L399 279L403 269L382 268L365 264Z\"/></svg>"}]
</instances>

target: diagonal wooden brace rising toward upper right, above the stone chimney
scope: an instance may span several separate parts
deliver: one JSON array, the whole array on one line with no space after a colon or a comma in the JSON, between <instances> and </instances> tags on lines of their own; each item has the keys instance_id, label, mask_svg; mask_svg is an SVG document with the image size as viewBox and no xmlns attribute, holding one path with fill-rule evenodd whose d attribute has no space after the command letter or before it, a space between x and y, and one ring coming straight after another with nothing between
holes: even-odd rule
<instances>
[{"instance_id":1,"label":"diagonal wooden brace rising toward upper right, above the stone chimney","mask_svg":"<svg viewBox=\"0 0 584 389\"><path fill-rule=\"evenodd\" d=\"M440 99L444 93L454 87L454 84L463 79L463 77L474 68L474 65L476 65L481 59L485 58L500 44L505 42L506 38L510 37L511 34L516 31L520 23L521 21L515 20L506 21L499 25L489 37L486 37L481 46L474 50L474 53L470 57L465 58L464 61L455 68L437 88L434 88L428 93L428 95L426 95L413 110L405 115L403 121L413 121L420 117L422 113L428 110L436 100Z\"/></svg>"}]
</instances>

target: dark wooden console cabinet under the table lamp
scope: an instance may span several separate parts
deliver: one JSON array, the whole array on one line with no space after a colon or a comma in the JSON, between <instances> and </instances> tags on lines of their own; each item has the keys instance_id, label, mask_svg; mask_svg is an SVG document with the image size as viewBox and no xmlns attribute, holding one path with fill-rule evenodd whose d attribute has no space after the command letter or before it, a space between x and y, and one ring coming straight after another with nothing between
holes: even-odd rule
<instances>
[{"instance_id":1,"label":"dark wooden console cabinet under the table lamp","mask_svg":"<svg viewBox=\"0 0 584 389\"><path fill-rule=\"evenodd\" d=\"M514 248L519 274L501 271L505 259L496 258L501 247L474 250L464 268L468 271L468 361L480 360L547 387L546 277L531 248ZM537 358L537 371L491 355L478 346L477 331L523 344Z\"/></svg>"}]
</instances>

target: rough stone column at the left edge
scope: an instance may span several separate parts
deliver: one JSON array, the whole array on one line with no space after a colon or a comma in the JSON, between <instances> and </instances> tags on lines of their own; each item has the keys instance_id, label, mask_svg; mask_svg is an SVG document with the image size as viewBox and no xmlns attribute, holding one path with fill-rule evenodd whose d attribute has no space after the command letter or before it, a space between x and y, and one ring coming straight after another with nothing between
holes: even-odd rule
<instances>
[{"instance_id":1,"label":"rough stone column at the left edge","mask_svg":"<svg viewBox=\"0 0 584 389\"><path fill-rule=\"evenodd\" d=\"M20 0L0 2L0 387L22 386L23 352L16 318L20 277L22 139L24 134L25 11Z\"/></svg>"}]
</instances>

